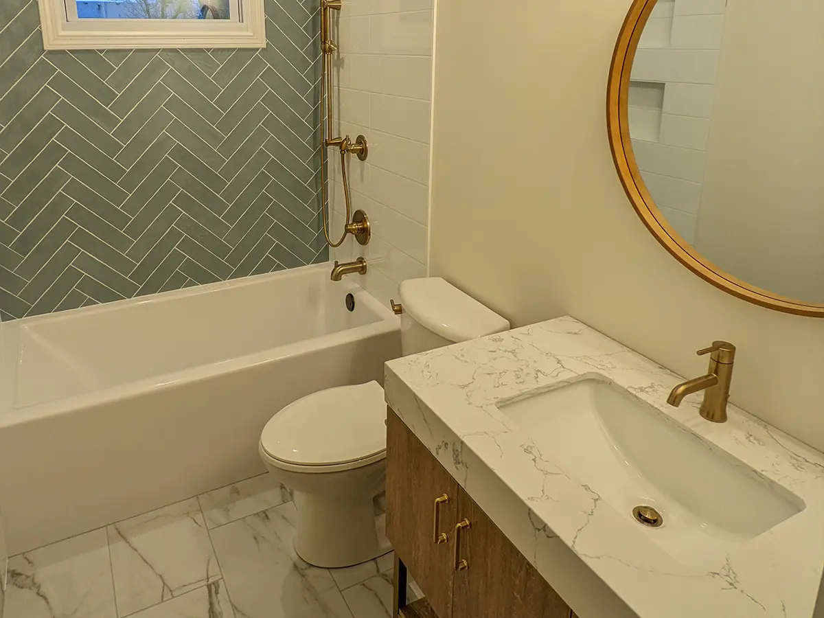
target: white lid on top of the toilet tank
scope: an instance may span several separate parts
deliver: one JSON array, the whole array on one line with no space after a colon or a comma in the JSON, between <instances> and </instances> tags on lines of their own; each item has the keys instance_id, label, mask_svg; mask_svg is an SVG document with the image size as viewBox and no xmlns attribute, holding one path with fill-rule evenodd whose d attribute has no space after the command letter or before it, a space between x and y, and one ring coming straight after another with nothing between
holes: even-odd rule
<instances>
[{"instance_id":1,"label":"white lid on top of the toilet tank","mask_svg":"<svg viewBox=\"0 0 824 618\"><path fill-rule=\"evenodd\" d=\"M440 277L400 283L400 302L414 321L460 343L509 330L509 321Z\"/></svg>"}]
</instances>

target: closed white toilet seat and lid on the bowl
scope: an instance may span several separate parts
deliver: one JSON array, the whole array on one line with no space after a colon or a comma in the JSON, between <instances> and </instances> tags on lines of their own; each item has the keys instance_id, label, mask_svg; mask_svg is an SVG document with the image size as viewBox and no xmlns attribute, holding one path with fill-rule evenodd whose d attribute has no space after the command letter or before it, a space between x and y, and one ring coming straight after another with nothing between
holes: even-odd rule
<instances>
[{"instance_id":1,"label":"closed white toilet seat and lid on the bowl","mask_svg":"<svg viewBox=\"0 0 824 618\"><path fill-rule=\"evenodd\" d=\"M377 382L302 397L260 434L260 455L283 470L346 471L386 458L386 402Z\"/></svg>"}]
</instances>

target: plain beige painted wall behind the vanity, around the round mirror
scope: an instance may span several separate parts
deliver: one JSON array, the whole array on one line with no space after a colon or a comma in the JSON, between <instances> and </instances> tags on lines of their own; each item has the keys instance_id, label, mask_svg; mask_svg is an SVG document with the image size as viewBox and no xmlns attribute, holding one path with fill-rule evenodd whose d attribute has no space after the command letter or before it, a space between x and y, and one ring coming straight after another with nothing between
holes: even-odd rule
<instances>
[{"instance_id":1,"label":"plain beige painted wall behind the vanity, around the round mirror","mask_svg":"<svg viewBox=\"0 0 824 618\"><path fill-rule=\"evenodd\" d=\"M685 376L739 346L733 402L824 449L824 320L728 296L649 235L606 140L630 0L440 2L432 273L525 325L571 314Z\"/></svg>"}]
</instances>

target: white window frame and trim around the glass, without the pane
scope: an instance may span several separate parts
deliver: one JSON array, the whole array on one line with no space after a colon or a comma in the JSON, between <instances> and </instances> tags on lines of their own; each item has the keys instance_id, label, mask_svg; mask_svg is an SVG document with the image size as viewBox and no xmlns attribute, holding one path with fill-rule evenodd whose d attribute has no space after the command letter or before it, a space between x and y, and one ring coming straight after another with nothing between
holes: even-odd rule
<instances>
[{"instance_id":1,"label":"white window frame and trim around the glass, without the pane","mask_svg":"<svg viewBox=\"0 0 824 618\"><path fill-rule=\"evenodd\" d=\"M39 0L38 3L45 49L266 46L264 0L232 0L232 18L227 20L78 19L75 0Z\"/></svg>"}]
</instances>

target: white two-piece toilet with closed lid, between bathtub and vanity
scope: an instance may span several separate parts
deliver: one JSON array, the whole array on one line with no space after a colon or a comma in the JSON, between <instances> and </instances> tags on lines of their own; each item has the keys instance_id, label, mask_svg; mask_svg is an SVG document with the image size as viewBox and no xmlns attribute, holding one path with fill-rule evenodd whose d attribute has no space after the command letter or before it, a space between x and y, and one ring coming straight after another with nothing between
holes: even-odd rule
<instances>
[{"instance_id":1,"label":"white two-piece toilet with closed lid, between bathtub and vanity","mask_svg":"<svg viewBox=\"0 0 824 618\"><path fill-rule=\"evenodd\" d=\"M440 278L400 284L405 356L492 335L509 322ZM346 567L391 550L373 499L386 481L386 402L377 382L339 386L283 408L260 435L260 456L297 507L297 554Z\"/></svg>"}]
</instances>

